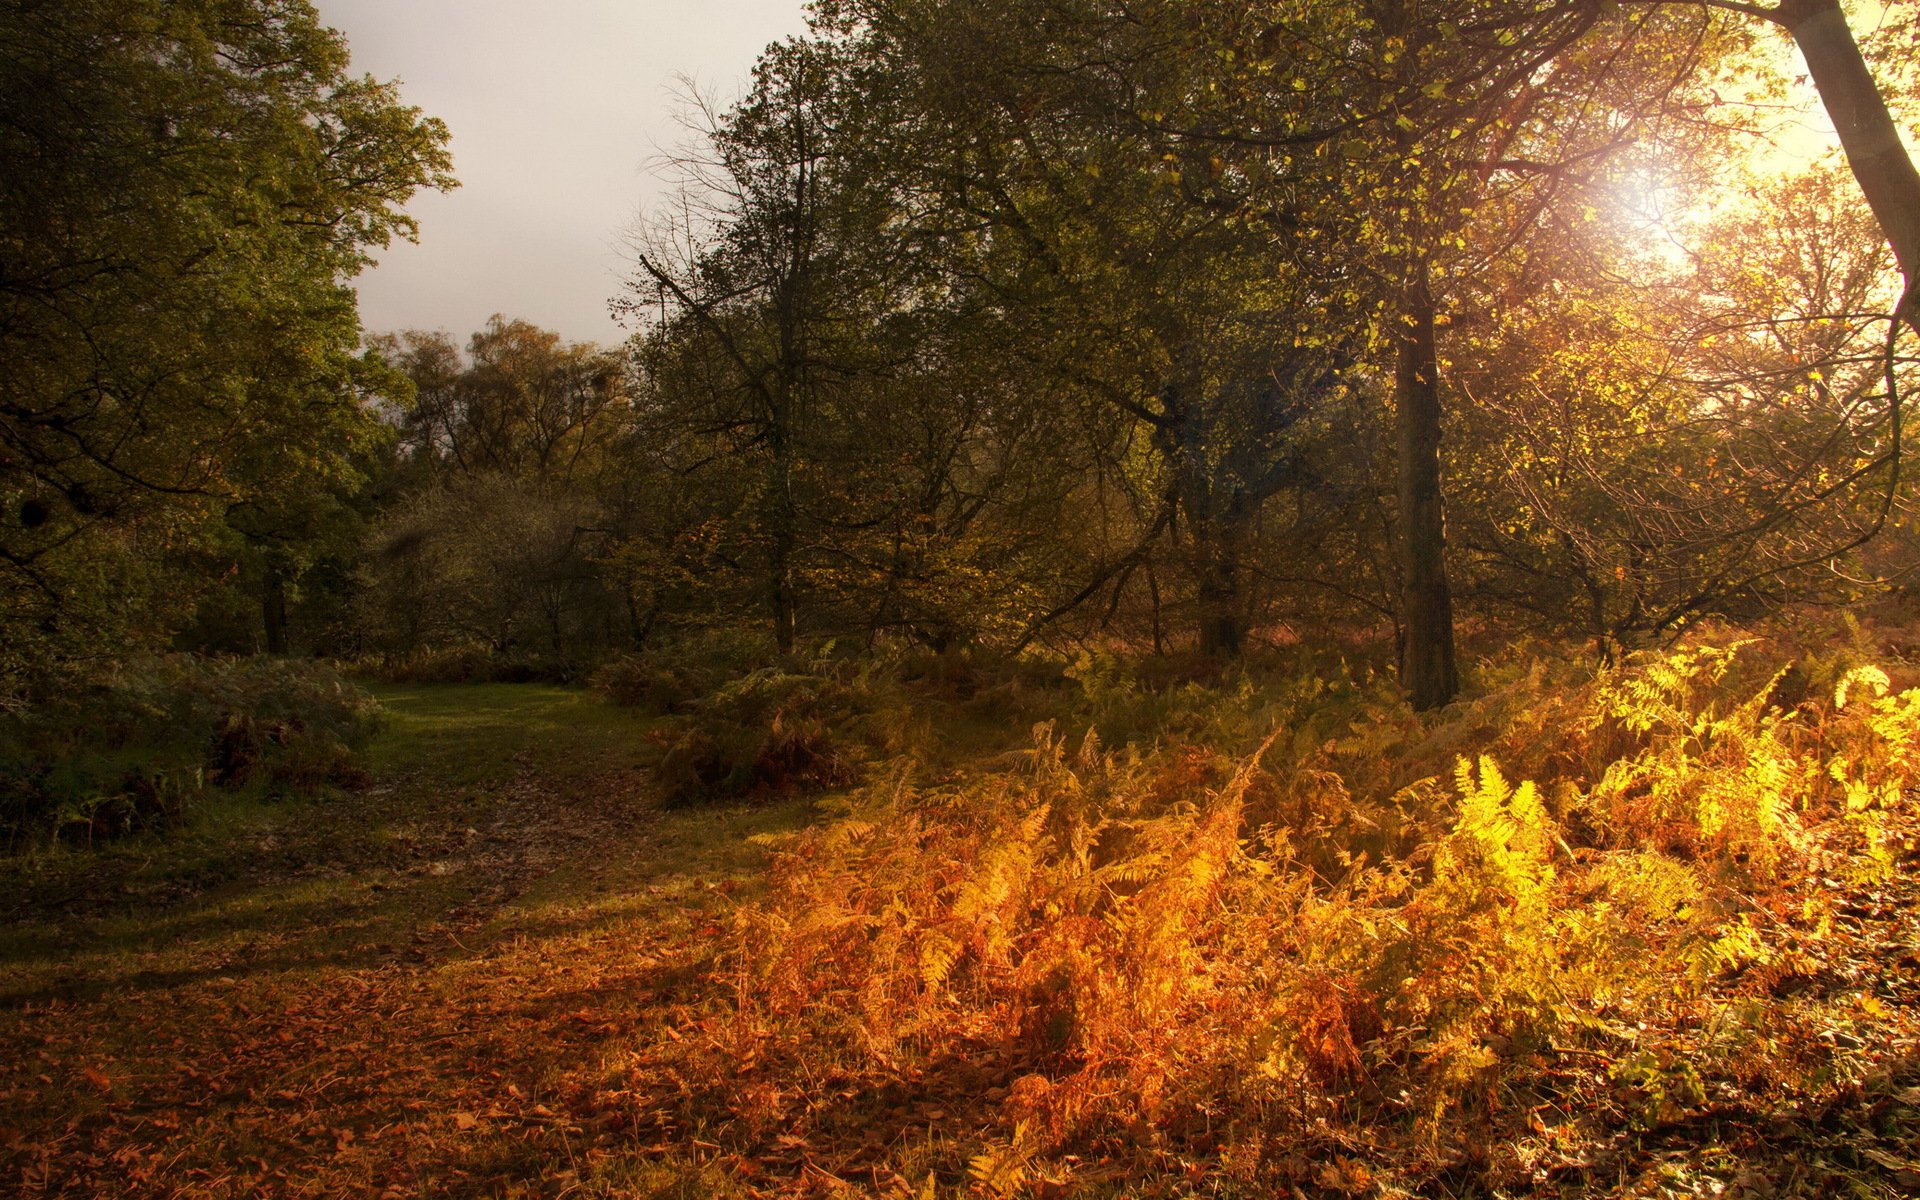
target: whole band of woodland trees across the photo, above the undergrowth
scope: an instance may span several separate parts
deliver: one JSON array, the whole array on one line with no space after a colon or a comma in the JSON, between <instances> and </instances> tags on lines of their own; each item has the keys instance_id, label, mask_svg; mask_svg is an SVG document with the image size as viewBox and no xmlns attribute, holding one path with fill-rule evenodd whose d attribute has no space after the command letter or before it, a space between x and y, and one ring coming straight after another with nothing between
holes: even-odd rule
<instances>
[{"instance_id":1,"label":"whole band of woodland trees across the photo, above the undergrowth","mask_svg":"<svg viewBox=\"0 0 1920 1200\"><path fill-rule=\"evenodd\" d=\"M33 655L1321 628L1434 707L1455 611L1611 655L1912 557L1899 23L831 0L693 108L605 349L361 342L346 284L451 186L445 129L307 6L4 19ZM1757 165L1730 96L1780 90L1782 31L1853 179ZM1686 217L1649 230L1649 188Z\"/></svg>"}]
</instances>

